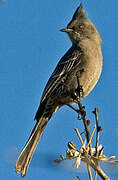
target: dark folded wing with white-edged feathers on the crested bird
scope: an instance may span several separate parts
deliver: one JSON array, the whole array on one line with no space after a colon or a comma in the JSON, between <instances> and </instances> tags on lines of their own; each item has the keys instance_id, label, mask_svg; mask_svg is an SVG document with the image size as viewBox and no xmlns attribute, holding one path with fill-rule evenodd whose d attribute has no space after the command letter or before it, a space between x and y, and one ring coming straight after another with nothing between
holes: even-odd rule
<instances>
[{"instance_id":1,"label":"dark folded wing with white-edged feathers on the crested bird","mask_svg":"<svg viewBox=\"0 0 118 180\"><path fill-rule=\"evenodd\" d=\"M80 63L81 55L81 49L73 45L60 59L54 72L52 73L51 77L47 82L41 98L41 103L46 99L47 96L50 96L50 94L59 85L61 80L65 77L65 75L68 74L76 65Z\"/></svg>"}]
</instances>

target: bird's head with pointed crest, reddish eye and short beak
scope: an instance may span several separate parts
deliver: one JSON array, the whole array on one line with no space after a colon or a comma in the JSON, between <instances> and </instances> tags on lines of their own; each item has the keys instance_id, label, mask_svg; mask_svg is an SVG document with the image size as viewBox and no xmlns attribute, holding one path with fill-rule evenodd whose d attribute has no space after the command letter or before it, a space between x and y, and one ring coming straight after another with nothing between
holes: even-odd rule
<instances>
[{"instance_id":1,"label":"bird's head with pointed crest, reddish eye and short beak","mask_svg":"<svg viewBox=\"0 0 118 180\"><path fill-rule=\"evenodd\" d=\"M72 43L76 43L87 38L97 40L100 44L102 41L97 29L87 17L82 4L80 4L75 11L72 20L69 22L67 27L61 29L61 32L66 32Z\"/></svg>"}]
</instances>

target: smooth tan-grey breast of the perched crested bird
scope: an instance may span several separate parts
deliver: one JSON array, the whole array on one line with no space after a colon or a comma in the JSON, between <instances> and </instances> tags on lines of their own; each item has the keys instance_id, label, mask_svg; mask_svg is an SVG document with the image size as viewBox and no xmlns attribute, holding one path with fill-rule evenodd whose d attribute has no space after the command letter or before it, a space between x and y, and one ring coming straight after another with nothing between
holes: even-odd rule
<instances>
[{"instance_id":1,"label":"smooth tan-grey breast of the perched crested bird","mask_svg":"<svg viewBox=\"0 0 118 180\"><path fill-rule=\"evenodd\" d=\"M84 49L85 67L80 77L80 85L82 85L84 97L87 96L96 83L98 82L102 72L102 52L101 46L96 44L88 44Z\"/></svg>"}]
</instances>

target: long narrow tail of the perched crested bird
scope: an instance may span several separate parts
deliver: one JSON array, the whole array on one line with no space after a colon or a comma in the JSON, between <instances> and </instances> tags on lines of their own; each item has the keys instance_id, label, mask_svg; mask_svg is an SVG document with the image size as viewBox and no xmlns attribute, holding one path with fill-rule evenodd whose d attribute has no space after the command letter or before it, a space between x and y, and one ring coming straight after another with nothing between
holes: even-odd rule
<instances>
[{"instance_id":1,"label":"long narrow tail of the perched crested bird","mask_svg":"<svg viewBox=\"0 0 118 180\"><path fill-rule=\"evenodd\" d=\"M23 151L21 152L19 158L16 161L16 172L20 173L22 177L26 174L29 163L32 159L32 155L36 149L36 146L49 119L50 117L41 117L40 120L37 121L31 133L31 136L29 137Z\"/></svg>"}]
</instances>

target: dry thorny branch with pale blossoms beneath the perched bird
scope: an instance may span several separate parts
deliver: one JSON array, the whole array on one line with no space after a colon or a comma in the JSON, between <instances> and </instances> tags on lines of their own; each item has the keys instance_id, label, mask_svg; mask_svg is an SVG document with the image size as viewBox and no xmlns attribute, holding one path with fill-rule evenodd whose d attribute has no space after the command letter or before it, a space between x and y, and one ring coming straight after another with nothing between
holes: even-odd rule
<instances>
[{"instance_id":1,"label":"dry thorny branch with pale blossoms beneath the perched bird","mask_svg":"<svg viewBox=\"0 0 118 180\"><path fill-rule=\"evenodd\" d=\"M84 131L85 131L85 139L83 140L81 137L81 133L79 133L79 130L75 128L75 131L77 133L77 136L81 142L81 147L76 149L76 145L73 142L68 143L68 148L66 151L66 157L60 156L60 160L57 159L55 162L61 162L63 160L72 160L75 159L75 162L73 164L73 167L79 167L81 161L85 162L87 165L88 169L88 174L89 174L89 179L93 180L92 178L92 173L91 173L91 168L95 171L95 178L94 180L97 179L97 175L99 175L103 180L110 180L107 174L101 169L99 162L103 161L106 163L111 163L111 164L118 164L118 160L112 160L115 158L115 156L107 157L103 155L103 149L104 146L101 144L99 145L99 138L100 138L100 131L102 130L101 126L99 126L98 123L98 109L95 108L93 113L95 114L95 120L96 120L96 125L93 128L92 134L89 132L89 124L90 120L86 120L86 112L85 112L85 107L82 106L81 101L79 99L78 101L78 106L79 109L74 108L71 105L68 105L71 109L73 109L76 113L78 113L79 119L83 121L84 124ZM94 132L96 130L96 142L95 142L95 147L92 146L91 139L94 135ZM86 140L87 140L87 145L86 145Z\"/></svg>"}]
</instances>

